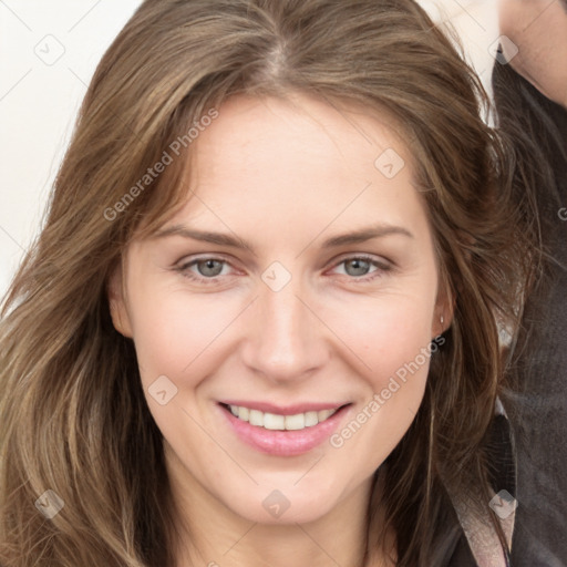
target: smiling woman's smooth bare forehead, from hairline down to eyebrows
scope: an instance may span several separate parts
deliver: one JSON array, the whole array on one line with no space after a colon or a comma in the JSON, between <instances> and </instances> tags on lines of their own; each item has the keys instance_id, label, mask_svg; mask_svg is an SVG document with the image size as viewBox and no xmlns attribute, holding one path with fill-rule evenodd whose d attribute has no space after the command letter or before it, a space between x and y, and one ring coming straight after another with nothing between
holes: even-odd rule
<instances>
[{"instance_id":1,"label":"smiling woman's smooth bare forehead, from hairline down to eyebrows","mask_svg":"<svg viewBox=\"0 0 567 567\"><path fill-rule=\"evenodd\" d=\"M218 114L192 144L190 190L168 225L295 247L380 223L429 231L412 155L388 114L305 95L235 96Z\"/></svg>"}]
</instances>

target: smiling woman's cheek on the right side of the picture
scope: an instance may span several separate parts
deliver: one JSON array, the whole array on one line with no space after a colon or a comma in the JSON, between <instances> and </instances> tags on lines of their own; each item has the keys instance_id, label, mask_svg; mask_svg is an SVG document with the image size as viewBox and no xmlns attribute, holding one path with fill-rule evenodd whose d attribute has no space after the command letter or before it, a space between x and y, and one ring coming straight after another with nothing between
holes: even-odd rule
<instances>
[{"instance_id":1,"label":"smiling woman's cheek on the right side of the picture","mask_svg":"<svg viewBox=\"0 0 567 567\"><path fill-rule=\"evenodd\" d=\"M360 357L358 368L367 385L359 403L368 436L358 442L381 446L381 456L398 444L423 399L432 357L434 289L429 297L390 295L372 305L351 306L338 327Z\"/></svg>"}]
</instances>

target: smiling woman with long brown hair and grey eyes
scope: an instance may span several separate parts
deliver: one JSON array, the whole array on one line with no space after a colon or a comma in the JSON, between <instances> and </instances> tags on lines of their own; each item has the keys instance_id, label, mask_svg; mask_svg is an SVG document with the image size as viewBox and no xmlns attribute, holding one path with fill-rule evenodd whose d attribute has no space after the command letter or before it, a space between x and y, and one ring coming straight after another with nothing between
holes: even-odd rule
<instances>
[{"instance_id":1,"label":"smiling woman with long brown hair and grey eyes","mask_svg":"<svg viewBox=\"0 0 567 567\"><path fill-rule=\"evenodd\" d=\"M6 300L2 565L504 565L477 96L410 0L144 2Z\"/></svg>"}]
</instances>

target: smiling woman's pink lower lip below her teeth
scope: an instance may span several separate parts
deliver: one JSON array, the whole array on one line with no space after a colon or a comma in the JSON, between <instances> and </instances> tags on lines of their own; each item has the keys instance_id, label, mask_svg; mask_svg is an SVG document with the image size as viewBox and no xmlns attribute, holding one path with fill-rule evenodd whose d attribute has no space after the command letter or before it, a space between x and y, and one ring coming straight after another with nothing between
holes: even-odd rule
<instances>
[{"instance_id":1,"label":"smiling woman's pink lower lip below her teeth","mask_svg":"<svg viewBox=\"0 0 567 567\"><path fill-rule=\"evenodd\" d=\"M297 431L272 431L250 425L235 417L229 410L220 406L228 423L241 441L262 453L277 456L295 456L308 453L330 437L339 425L348 406L343 406L326 421Z\"/></svg>"}]
</instances>

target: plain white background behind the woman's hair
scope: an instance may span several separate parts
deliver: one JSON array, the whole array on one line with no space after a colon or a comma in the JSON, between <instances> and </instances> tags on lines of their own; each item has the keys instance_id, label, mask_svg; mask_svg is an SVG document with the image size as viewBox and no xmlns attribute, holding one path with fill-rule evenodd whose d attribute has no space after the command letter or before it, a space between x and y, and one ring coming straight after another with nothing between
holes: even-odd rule
<instances>
[{"instance_id":1,"label":"plain white background behind the woman's hair","mask_svg":"<svg viewBox=\"0 0 567 567\"><path fill-rule=\"evenodd\" d=\"M141 0L0 0L0 298L37 235L86 85ZM496 0L420 0L485 86ZM54 59L59 59L54 61Z\"/></svg>"}]
</instances>

